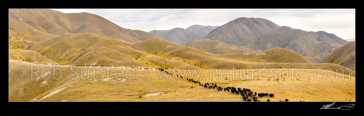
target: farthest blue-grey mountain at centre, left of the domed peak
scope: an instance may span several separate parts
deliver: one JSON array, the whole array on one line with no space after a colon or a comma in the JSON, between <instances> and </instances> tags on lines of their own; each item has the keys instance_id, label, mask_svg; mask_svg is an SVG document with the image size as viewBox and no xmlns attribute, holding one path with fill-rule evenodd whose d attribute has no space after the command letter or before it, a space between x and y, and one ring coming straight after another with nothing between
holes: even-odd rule
<instances>
[{"instance_id":1,"label":"farthest blue-grey mountain at centre, left of the domed peak","mask_svg":"<svg viewBox=\"0 0 364 116\"><path fill-rule=\"evenodd\" d=\"M202 26L202 25L193 25L188 27L187 29L182 28L174 28L171 30L153 30L149 33L160 36L161 38L173 42L175 44L184 45L191 40L200 39L203 36L207 35L210 31L215 29L213 26Z\"/></svg>"}]
</instances>

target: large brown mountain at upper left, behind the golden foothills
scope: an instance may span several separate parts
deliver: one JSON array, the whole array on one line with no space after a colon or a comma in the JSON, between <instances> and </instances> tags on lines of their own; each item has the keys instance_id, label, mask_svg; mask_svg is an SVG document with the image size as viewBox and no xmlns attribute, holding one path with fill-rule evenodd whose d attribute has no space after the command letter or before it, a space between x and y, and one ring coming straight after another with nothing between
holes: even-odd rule
<instances>
[{"instance_id":1,"label":"large brown mountain at upper left, behind the golden foothills","mask_svg":"<svg viewBox=\"0 0 364 116\"><path fill-rule=\"evenodd\" d=\"M140 30L124 29L95 14L62 13L50 9L9 9L9 18L25 23L48 34L94 33L100 36L118 36L131 43L159 37ZM9 24L9 28L16 29ZM18 31L18 30L15 30Z\"/></svg>"}]
</instances>

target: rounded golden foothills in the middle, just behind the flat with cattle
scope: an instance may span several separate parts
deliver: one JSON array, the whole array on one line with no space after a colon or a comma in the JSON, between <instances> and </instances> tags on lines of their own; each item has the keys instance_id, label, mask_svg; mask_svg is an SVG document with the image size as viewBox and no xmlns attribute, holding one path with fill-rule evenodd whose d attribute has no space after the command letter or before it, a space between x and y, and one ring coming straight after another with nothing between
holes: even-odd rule
<instances>
[{"instance_id":1,"label":"rounded golden foothills in the middle, just behind the flat with cattle","mask_svg":"<svg viewBox=\"0 0 364 116\"><path fill-rule=\"evenodd\" d=\"M78 43L77 41L82 39L76 38L81 35L92 36L94 39L88 38L87 41L83 41L88 43L72 45L74 47L63 44L70 40L75 40ZM246 69L284 67L297 69L331 68L334 71L336 68L344 68L336 64L313 64L298 53L283 48L251 53L215 55L195 48L180 46L161 38L129 43L116 36L100 37L91 33L80 33L72 36L64 38L66 40L60 39L59 42L52 44L40 53L44 53L47 57L62 59L66 64L79 65L96 63L95 65L132 66L134 63L136 66L146 68ZM38 45L35 44L34 46ZM68 50L58 48L68 48ZM159 57L152 57L151 55Z\"/></svg>"}]
</instances>

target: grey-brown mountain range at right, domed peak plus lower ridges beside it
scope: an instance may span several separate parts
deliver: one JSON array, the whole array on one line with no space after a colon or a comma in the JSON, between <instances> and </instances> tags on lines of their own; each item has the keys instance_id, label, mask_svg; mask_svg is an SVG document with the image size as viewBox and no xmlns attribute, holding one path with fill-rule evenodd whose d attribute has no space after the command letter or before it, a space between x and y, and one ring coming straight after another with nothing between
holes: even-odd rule
<instances>
[{"instance_id":1,"label":"grey-brown mountain range at right, domed peak plus lower ridges beside it","mask_svg":"<svg viewBox=\"0 0 364 116\"><path fill-rule=\"evenodd\" d=\"M217 54L233 53L232 50L243 46L245 46L244 50L246 51L240 52L264 51L279 47L297 52L314 63L319 63L337 48L348 43L335 34L329 34L325 31L302 31L288 26L280 27L266 19L246 17L237 18L225 25L219 26L206 36L200 38L200 40L202 39L218 40L218 42L236 47L231 48L233 46L227 46L225 49L219 47L218 52L212 51L213 49L207 50L207 48L215 49L217 47L217 44L208 44L211 42L207 42L207 40L204 40L202 43L191 41L185 46Z\"/></svg>"}]
</instances>

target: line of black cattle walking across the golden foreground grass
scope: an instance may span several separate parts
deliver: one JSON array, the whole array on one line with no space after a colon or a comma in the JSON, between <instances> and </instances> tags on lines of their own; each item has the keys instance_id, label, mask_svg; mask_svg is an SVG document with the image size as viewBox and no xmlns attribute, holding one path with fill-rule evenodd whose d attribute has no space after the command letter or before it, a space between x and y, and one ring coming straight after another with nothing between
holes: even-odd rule
<instances>
[{"instance_id":1,"label":"line of black cattle walking across the golden foreground grass","mask_svg":"<svg viewBox=\"0 0 364 116\"><path fill-rule=\"evenodd\" d=\"M159 69L159 70L164 71L165 73L170 74L170 75L173 76L173 74L167 72L165 69ZM177 75L177 77L180 77L182 79L184 78L183 76L179 76L179 75ZM204 87L206 89L217 89L218 91L227 91L227 92L231 92L231 93L236 94L236 95L241 95L244 101L249 101L250 102L250 101L253 100L253 101L260 102L260 100L258 100L258 99L262 98L262 97L270 97L270 98L273 97L274 98L274 94L272 94L272 93L271 94L256 93L256 92L253 93L253 91L250 90L250 89L245 89L245 88L241 89L239 87L237 87L237 88L235 88L235 87L225 87L224 88L224 87L218 86L216 83L205 83L205 84L203 84L203 83L201 83L199 81L193 80L192 78L186 78L186 80L188 82L193 82L193 83L196 83L196 84L198 83L199 86ZM249 99L249 98L251 98L251 99ZM269 102L270 100L267 99L267 101ZM290 101L290 100L285 99L285 101Z\"/></svg>"}]
</instances>

